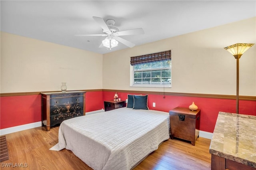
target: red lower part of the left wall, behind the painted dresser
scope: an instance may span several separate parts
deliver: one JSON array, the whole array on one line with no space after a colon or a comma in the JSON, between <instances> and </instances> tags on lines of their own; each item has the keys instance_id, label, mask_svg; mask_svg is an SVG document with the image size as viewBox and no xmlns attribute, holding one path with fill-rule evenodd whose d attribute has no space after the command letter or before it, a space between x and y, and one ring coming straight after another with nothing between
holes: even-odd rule
<instances>
[{"instance_id":1,"label":"red lower part of the left wall, behind the painted dresser","mask_svg":"<svg viewBox=\"0 0 256 170\"><path fill-rule=\"evenodd\" d=\"M102 91L86 92L86 112L104 109ZM0 129L41 121L41 95L0 97Z\"/></svg>"}]
</instances>

